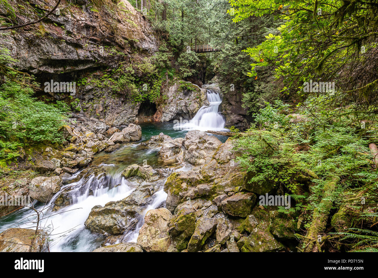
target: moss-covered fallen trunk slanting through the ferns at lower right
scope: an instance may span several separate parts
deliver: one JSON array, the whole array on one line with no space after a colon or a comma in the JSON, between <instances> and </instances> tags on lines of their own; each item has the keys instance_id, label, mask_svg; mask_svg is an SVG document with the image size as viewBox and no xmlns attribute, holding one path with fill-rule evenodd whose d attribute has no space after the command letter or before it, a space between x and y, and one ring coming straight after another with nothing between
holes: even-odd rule
<instances>
[{"instance_id":1,"label":"moss-covered fallen trunk slanting through the ferns at lower right","mask_svg":"<svg viewBox=\"0 0 378 278\"><path fill-rule=\"evenodd\" d=\"M322 210L319 210L319 208L315 208L314 210L311 226L308 228L305 238L305 252L321 252L321 238L319 242L318 236L324 233L328 215L332 207L332 199L330 199L330 196L333 194L333 191L335 191L336 184L339 180L340 177L338 176L329 177L324 185L323 199L319 203L319 207Z\"/></svg>"}]
</instances>

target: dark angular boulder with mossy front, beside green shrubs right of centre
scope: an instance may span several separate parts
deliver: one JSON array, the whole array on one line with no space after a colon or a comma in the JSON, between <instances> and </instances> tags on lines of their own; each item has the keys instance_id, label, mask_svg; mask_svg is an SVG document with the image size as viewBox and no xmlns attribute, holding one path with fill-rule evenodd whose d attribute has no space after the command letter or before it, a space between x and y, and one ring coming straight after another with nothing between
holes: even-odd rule
<instances>
[{"instance_id":1,"label":"dark angular boulder with mossy front, beside green shrubs right of centre","mask_svg":"<svg viewBox=\"0 0 378 278\"><path fill-rule=\"evenodd\" d=\"M232 216L246 217L256 202L256 195L253 193L237 193L224 199L221 207L224 213Z\"/></svg>"}]
</instances>

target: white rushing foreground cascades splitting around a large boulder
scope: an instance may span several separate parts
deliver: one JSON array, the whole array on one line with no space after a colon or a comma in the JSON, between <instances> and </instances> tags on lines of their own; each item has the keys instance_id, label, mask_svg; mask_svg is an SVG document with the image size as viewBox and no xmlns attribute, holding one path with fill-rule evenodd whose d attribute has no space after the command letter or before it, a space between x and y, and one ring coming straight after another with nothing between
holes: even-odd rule
<instances>
[{"instance_id":1,"label":"white rushing foreground cascades splitting around a large boulder","mask_svg":"<svg viewBox=\"0 0 378 278\"><path fill-rule=\"evenodd\" d=\"M40 227L46 231L51 231L50 243L51 252L89 252L99 247L99 244L104 242L104 238L100 235L91 233L85 226L84 222L88 217L91 209L95 205L104 206L110 201L118 201L129 196L135 187L121 176L120 171L112 171L115 168L114 164L101 164L103 169L107 169L107 174L98 175L91 174L89 177L85 176L79 181L64 185L62 189L55 194L50 203L44 205L40 204L37 210L42 210ZM75 177L77 174L75 175ZM74 177L73 177L74 178ZM164 183L163 183L164 184ZM67 188L74 188L70 193L72 194L71 204L67 207L61 208L58 211L52 211L51 203L64 192ZM167 193L164 192L163 186L152 195L152 201L147 205L146 209L141 213L141 220L138 222L135 230L130 231L122 237L124 241L136 242L138 238L139 229L144 222L144 216L148 210L157 208L167 199ZM45 208L44 208L45 207ZM32 228L32 224L36 219L34 211L23 208L15 219L11 219L0 225L0 229L5 228ZM116 242L118 243L118 242Z\"/></svg>"}]
</instances>

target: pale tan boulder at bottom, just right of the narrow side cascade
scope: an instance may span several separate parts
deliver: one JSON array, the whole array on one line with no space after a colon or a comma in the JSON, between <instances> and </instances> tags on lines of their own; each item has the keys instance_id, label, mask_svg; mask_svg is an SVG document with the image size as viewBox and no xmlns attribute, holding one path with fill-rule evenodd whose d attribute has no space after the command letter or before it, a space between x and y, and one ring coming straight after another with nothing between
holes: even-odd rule
<instances>
[{"instance_id":1,"label":"pale tan boulder at bottom, just right of the narrow side cascade","mask_svg":"<svg viewBox=\"0 0 378 278\"><path fill-rule=\"evenodd\" d=\"M166 252L171 243L168 235L171 218L172 213L166 208L147 211L136 243L147 252Z\"/></svg>"}]
</instances>

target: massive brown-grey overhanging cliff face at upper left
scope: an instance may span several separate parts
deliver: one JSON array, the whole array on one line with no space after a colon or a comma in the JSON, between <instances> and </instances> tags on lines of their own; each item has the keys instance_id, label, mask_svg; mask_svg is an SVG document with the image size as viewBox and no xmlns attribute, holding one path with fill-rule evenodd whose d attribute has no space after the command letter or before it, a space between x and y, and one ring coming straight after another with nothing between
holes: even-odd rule
<instances>
[{"instance_id":1,"label":"massive brown-grey overhanging cliff face at upper left","mask_svg":"<svg viewBox=\"0 0 378 278\"><path fill-rule=\"evenodd\" d=\"M64 12L59 15L53 13L48 21L40 22L38 28L25 27L9 33L9 36L2 36L1 43L12 50L12 57L18 60L18 70L36 76L42 84L41 90L45 89L45 82L51 80L76 82L73 98L78 102L74 104L75 109L81 109L85 116L104 118L109 126L132 123L140 103L132 104L124 95L114 94L106 76L102 81L106 86L97 86L94 82L111 73L122 62L139 62L155 53L158 41L154 31L143 14L125 0L117 5L127 12L118 8L119 12L111 14L102 6L97 7L98 12L91 11L93 3L88 0L80 2L86 5L84 9L61 3L59 7L64 7ZM21 0L11 0L9 4L17 14L27 12L31 18L37 18L36 10L28 9ZM55 4L53 0L31 2L33 7L35 5L44 11ZM3 6L0 9L7 14L7 8ZM115 10L115 7L110 9ZM18 22L23 21L21 16ZM108 68L108 71L99 68ZM70 96L70 92L50 94L59 100ZM104 123L94 128L96 132L105 132Z\"/></svg>"}]
</instances>

